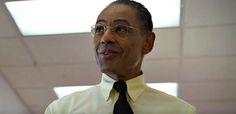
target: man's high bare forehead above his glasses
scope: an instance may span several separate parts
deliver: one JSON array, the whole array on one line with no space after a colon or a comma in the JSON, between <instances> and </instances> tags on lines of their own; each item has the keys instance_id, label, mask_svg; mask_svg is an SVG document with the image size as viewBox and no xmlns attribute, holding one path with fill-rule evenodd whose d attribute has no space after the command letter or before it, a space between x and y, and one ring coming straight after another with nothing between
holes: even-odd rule
<instances>
[{"instance_id":1,"label":"man's high bare forehead above his glasses","mask_svg":"<svg viewBox=\"0 0 236 114\"><path fill-rule=\"evenodd\" d=\"M105 8L96 23L137 25L136 10L125 4L113 4Z\"/></svg>"}]
</instances>

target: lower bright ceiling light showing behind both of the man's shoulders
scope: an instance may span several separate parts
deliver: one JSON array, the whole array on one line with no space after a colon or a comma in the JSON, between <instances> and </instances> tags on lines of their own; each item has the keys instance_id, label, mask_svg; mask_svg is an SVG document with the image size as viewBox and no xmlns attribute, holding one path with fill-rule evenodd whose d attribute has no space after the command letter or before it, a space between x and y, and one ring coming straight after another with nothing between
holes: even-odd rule
<instances>
[{"instance_id":1,"label":"lower bright ceiling light showing behind both of the man's shoulders","mask_svg":"<svg viewBox=\"0 0 236 114\"><path fill-rule=\"evenodd\" d=\"M174 82L169 83L148 83L149 87L163 91L173 96L177 96L178 84ZM66 86L66 87L54 87L54 92L58 98L69 95L71 93L82 91L92 87L91 85L87 86Z\"/></svg>"}]
</instances>

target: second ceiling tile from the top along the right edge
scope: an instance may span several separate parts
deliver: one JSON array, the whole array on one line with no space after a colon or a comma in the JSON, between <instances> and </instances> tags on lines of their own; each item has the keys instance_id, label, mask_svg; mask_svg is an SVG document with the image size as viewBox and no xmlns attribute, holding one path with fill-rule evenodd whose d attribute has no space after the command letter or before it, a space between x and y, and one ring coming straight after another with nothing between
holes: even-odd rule
<instances>
[{"instance_id":1,"label":"second ceiling tile from the top along the right edge","mask_svg":"<svg viewBox=\"0 0 236 114\"><path fill-rule=\"evenodd\" d=\"M236 25L184 30L185 57L236 54Z\"/></svg>"}]
</instances>

